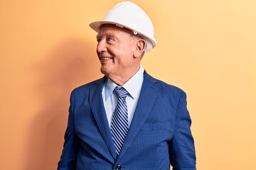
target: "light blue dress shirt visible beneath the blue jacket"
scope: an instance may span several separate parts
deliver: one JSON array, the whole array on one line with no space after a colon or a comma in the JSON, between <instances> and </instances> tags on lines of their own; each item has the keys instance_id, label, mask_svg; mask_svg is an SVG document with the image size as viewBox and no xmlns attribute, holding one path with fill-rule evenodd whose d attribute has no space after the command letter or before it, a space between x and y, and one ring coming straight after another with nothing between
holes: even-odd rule
<instances>
[{"instance_id":1,"label":"light blue dress shirt visible beneath the blue jacket","mask_svg":"<svg viewBox=\"0 0 256 170\"><path fill-rule=\"evenodd\" d=\"M127 95L127 109L128 109L128 125L131 124L135 108L139 100L139 94L142 90L144 68L139 67L139 71L129 79L124 85L124 89L128 91ZM105 86L102 89L102 98L107 114L107 121L111 127L112 115L114 108L117 106L117 94L112 93L117 86L111 79L107 79Z\"/></svg>"}]
</instances>

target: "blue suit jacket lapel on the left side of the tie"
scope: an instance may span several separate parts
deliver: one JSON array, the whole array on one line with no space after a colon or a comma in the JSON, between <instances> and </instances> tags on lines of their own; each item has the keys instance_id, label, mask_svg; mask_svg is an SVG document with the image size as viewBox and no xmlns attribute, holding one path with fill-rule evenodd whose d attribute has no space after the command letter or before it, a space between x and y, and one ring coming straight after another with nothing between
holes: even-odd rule
<instances>
[{"instance_id":1,"label":"blue suit jacket lapel on the left side of the tie","mask_svg":"<svg viewBox=\"0 0 256 170\"><path fill-rule=\"evenodd\" d=\"M97 126L100 129L101 135L105 140L105 143L110 150L114 159L117 157L117 152L115 152L114 142L112 140L112 135L110 132L110 127L107 123L107 115L105 113L104 104L102 101L102 87L105 83L105 78L97 81L97 86L92 86L90 88L90 106L92 108L92 113L95 117Z\"/></svg>"}]
</instances>

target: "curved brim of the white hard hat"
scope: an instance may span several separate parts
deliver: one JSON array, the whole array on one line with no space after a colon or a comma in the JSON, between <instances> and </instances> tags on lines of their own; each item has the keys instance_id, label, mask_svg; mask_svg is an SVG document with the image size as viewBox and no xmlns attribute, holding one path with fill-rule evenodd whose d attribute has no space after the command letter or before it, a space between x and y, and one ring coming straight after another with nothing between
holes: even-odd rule
<instances>
[{"instance_id":1,"label":"curved brim of the white hard hat","mask_svg":"<svg viewBox=\"0 0 256 170\"><path fill-rule=\"evenodd\" d=\"M154 38L149 38L149 36L146 36L143 33L140 33L139 31L134 30L132 28L129 28L127 26L124 26L120 23L115 23L115 22L112 22L112 21L95 21L95 22L90 23L89 26L90 26L90 28L92 28L92 30L95 30L97 33L99 33L100 32L100 26L102 26L103 24L113 24L113 25L115 25L119 28L127 28L131 31L136 31L139 35L142 35L143 38L146 38L151 42L152 48L156 47L156 40Z\"/></svg>"}]
</instances>

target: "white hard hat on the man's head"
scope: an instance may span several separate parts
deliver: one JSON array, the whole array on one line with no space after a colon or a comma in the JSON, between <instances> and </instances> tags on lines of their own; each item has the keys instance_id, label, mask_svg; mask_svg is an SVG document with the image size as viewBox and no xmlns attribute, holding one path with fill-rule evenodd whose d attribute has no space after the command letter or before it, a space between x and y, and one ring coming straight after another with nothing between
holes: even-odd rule
<instances>
[{"instance_id":1,"label":"white hard hat on the man's head","mask_svg":"<svg viewBox=\"0 0 256 170\"><path fill-rule=\"evenodd\" d=\"M132 30L135 35L141 35L146 41L146 51L156 46L153 23L142 8L132 2L124 1L117 4L107 13L103 21L90 23L90 27L99 33L102 24L114 24Z\"/></svg>"}]
</instances>

